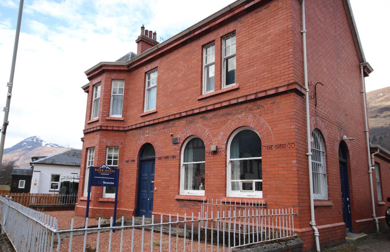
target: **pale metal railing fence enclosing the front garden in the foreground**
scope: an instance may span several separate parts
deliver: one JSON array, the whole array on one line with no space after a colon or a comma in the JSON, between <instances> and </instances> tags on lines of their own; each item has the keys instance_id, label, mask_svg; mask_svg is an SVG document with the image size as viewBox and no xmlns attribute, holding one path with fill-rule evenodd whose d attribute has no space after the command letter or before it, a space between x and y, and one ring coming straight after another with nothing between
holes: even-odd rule
<instances>
[{"instance_id":1,"label":"pale metal railing fence enclosing the front garden in the foreground","mask_svg":"<svg viewBox=\"0 0 390 252\"><path fill-rule=\"evenodd\" d=\"M242 205L241 205L242 206ZM219 206L220 208L222 206ZM246 209L203 215L160 215L146 223L119 219L104 226L58 230L56 218L0 197L0 222L18 252L24 251L232 251L264 241L296 236L293 209ZM96 222L96 221L95 221ZM117 232L115 232L117 231ZM96 248L93 248L96 245Z\"/></svg>"}]
</instances>

